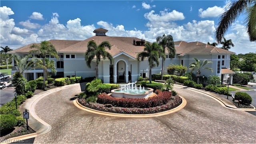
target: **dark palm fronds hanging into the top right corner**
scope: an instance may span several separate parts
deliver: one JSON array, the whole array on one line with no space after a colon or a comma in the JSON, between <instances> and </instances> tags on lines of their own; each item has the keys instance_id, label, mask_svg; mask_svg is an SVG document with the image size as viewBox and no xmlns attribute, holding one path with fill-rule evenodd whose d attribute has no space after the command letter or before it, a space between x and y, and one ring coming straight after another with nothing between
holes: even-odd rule
<instances>
[{"instance_id":1,"label":"dark palm fronds hanging into the top right corner","mask_svg":"<svg viewBox=\"0 0 256 144\"><path fill-rule=\"evenodd\" d=\"M224 34L238 16L246 12L247 17L244 21L250 41L256 41L256 0L237 0L233 1L229 9L220 16L220 22L216 28L215 37L218 43L221 42Z\"/></svg>"}]
</instances>

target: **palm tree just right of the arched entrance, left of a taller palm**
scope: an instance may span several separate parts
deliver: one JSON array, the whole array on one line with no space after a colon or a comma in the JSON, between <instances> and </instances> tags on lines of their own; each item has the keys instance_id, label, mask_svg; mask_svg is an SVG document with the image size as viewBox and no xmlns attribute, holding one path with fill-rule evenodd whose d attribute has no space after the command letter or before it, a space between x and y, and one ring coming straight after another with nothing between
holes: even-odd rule
<instances>
[{"instance_id":1,"label":"palm tree just right of the arched entrance, left of a taller palm","mask_svg":"<svg viewBox=\"0 0 256 144\"><path fill-rule=\"evenodd\" d=\"M159 56L164 57L164 55L162 46L158 45L157 42L153 44L147 42L144 51L137 54L138 61L144 61L145 58L148 58L150 84L152 81L152 68L159 66Z\"/></svg>"}]
</instances>

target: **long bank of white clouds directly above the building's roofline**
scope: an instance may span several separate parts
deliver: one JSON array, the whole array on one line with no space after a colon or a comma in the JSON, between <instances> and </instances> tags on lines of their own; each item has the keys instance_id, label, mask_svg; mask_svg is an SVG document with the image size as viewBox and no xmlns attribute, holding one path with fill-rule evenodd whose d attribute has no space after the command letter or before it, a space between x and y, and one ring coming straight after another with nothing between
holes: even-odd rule
<instances>
[{"instance_id":1,"label":"long bank of white clouds directly above the building's roofline","mask_svg":"<svg viewBox=\"0 0 256 144\"><path fill-rule=\"evenodd\" d=\"M178 25L174 23L175 20L183 20L184 15L182 12L173 10L169 12L168 9L155 14L154 11L144 14L148 20L146 26L148 30L141 31L138 28L133 30L126 30L125 24L114 25L106 21L98 21L97 26L87 24L82 26L82 20L76 18L68 20L66 25L61 24L58 20L58 13L53 13L51 20L47 24L40 26L39 30L31 31L33 24L26 20L20 24L27 24L29 28L18 28L15 26L14 19L10 19L9 15L14 14L10 8L0 7L0 41L2 46L9 46L12 49L20 48L24 45L33 42L40 42L43 40L85 40L94 36L93 30L102 27L108 30L108 36L128 36L143 38L149 42L155 42L157 36L163 34L170 34L173 36L174 41L183 40L186 42L215 42L214 30L215 23L212 20L202 20L187 22L186 24ZM30 26L29 26L30 25ZM114 26L113 26L114 25ZM240 22L235 22L228 34L224 36L226 39L232 39L235 47L230 51L239 53L256 52L256 43L249 42L246 29ZM219 47L222 45L220 44Z\"/></svg>"}]
</instances>

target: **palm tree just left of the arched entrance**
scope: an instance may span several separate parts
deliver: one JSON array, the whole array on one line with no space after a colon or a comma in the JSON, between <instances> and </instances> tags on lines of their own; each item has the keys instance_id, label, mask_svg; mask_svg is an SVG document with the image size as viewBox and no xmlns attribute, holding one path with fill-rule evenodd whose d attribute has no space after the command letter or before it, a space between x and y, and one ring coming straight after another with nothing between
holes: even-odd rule
<instances>
[{"instance_id":1,"label":"palm tree just left of the arched entrance","mask_svg":"<svg viewBox=\"0 0 256 144\"><path fill-rule=\"evenodd\" d=\"M93 40L89 41L87 44L87 51L84 54L84 59L86 61L86 65L91 68L91 62L96 56L96 78L99 77L99 63L100 63L100 56L103 57L105 60L108 58L110 60L110 64L112 64L114 58L111 56L109 52L105 50L105 47L111 50L111 44L107 41L100 43L98 46L96 42Z\"/></svg>"}]
</instances>

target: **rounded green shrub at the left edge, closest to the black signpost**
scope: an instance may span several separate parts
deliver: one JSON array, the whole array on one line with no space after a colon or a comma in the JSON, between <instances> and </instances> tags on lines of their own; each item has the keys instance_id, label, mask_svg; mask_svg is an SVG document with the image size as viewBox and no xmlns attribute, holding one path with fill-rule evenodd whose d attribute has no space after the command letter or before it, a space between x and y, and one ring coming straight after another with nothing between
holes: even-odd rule
<instances>
[{"instance_id":1,"label":"rounded green shrub at the left edge, closest to the black signpost","mask_svg":"<svg viewBox=\"0 0 256 144\"><path fill-rule=\"evenodd\" d=\"M0 114L0 119L0 126L2 132L11 130L12 128L14 128L14 126L17 125L16 116L12 114Z\"/></svg>"}]
</instances>

